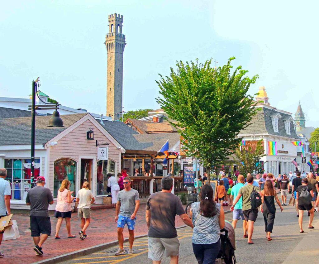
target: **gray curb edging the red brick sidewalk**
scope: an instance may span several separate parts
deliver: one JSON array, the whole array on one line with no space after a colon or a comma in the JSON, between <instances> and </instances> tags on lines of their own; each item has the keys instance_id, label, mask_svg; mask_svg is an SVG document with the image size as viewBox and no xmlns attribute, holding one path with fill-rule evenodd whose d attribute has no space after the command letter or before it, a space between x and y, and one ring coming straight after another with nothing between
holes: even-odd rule
<instances>
[{"instance_id":1,"label":"gray curb edging the red brick sidewalk","mask_svg":"<svg viewBox=\"0 0 319 264\"><path fill-rule=\"evenodd\" d=\"M226 213L230 213L230 211L229 210L225 211L225 214ZM186 226L187 225L182 225L182 226L176 227L176 229L184 228ZM147 234L136 236L134 239L145 238L145 237L147 237ZM128 241L129 241L128 238L124 239L124 242L128 242ZM53 257L53 258L49 258L49 259L46 259L46 260L33 262L31 264L55 264L57 262L66 261L66 260L70 260L70 259L73 259L73 258L82 257L82 256L87 255L87 254L91 254L91 253L94 253L94 252L97 252L97 251L100 251L100 250L108 249L108 248L110 248L112 246L115 246L117 244L118 244L118 240L115 240L115 241L111 241L111 242L108 242L108 243L104 243L104 244L100 244L100 245L96 245L96 246L80 249L80 250L77 250L77 251L73 251L73 252L70 252L70 253L67 253L67 254L59 255L59 256L56 256L56 257Z\"/></svg>"}]
</instances>

